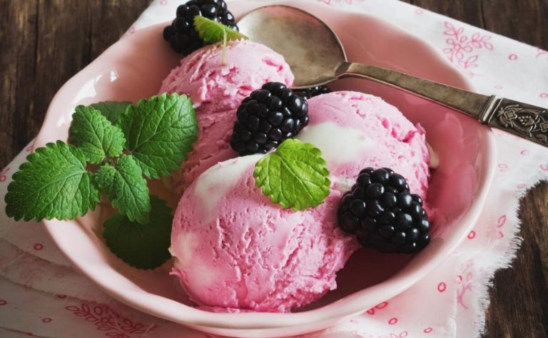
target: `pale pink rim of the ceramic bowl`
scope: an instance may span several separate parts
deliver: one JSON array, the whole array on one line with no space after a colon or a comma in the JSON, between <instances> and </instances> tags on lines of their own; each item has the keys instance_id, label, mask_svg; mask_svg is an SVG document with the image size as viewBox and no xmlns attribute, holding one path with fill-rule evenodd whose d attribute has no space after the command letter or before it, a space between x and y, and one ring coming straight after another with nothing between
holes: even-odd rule
<instances>
[{"instance_id":1,"label":"pale pink rim of the ceramic bowl","mask_svg":"<svg viewBox=\"0 0 548 338\"><path fill-rule=\"evenodd\" d=\"M238 1L232 1L231 4L243 4L246 1L238 0ZM300 0L286 0L286 1L261 1L260 4L263 6L267 6L268 4L287 4L289 6L295 6L297 5L298 8L303 9L303 7L310 6L309 2L300 1ZM411 39L412 41L415 41L415 43L418 43L422 45L429 53L431 53L432 58L437 58L440 63L447 66L447 68L452 69L454 72L454 76L463 83L463 88L474 91L475 87L470 83L470 81L465 77L464 74L462 74L458 69L450 63L450 61L445 58L442 51L440 51L437 47L433 46L432 43L429 41L422 39L420 36L415 36L413 34L410 34L409 32L405 31L404 29L400 28L399 26L395 26L394 24L391 24L390 22L386 21L385 19L381 19L377 16L372 16L370 14L364 13L364 12L354 12L350 11L348 9L340 9L335 8L332 6L326 6L326 8L332 13L332 15L344 15L344 16L365 16L367 20L370 21L376 21L377 24L380 24L380 26L384 26L387 29L392 29L392 31L395 31L397 34L400 34L401 36L405 36L406 39ZM305 9L306 10L306 9ZM164 24L156 24L148 26L146 29L151 29L156 26L165 25ZM139 31L136 32L138 34ZM126 43L128 40L131 40L131 36L126 37L125 39L121 39L119 41L116 41L116 43L113 43L112 46L106 49L98 58L96 58L95 61L92 61L92 63L95 63L98 60L101 60L102 58L105 58L108 51L111 51L113 48L117 48L122 43ZM36 136L36 145L41 146L46 143L47 138L47 130L46 127L51 125L51 120L54 119L54 114L52 113L52 110L54 106L56 106L57 101L62 101L61 97L66 95L66 91L73 91L75 86L80 83L80 78L86 78L86 74L90 72L90 66L91 64L83 68L81 71L76 73L75 76L70 78L64 86L62 86L59 91L57 91L56 95L52 99L49 108L46 112L46 117L44 118L44 123L41 126L41 129L39 131L39 134ZM86 275L86 277L90 278L96 285L101 287L101 290L103 292L106 292L108 295L111 295L115 299L118 299L119 301L128 304L129 306L139 309L141 311L147 312L148 314L153 314L156 317L161 317L163 319L168 319L173 322L178 322L180 324L191 324L193 326L200 326L200 327L208 327L211 329L275 329L275 328L283 328L283 327L293 327L297 325L309 325L309 324L315 324L319 322L326 322L326 321L333 321L334 317L337 318L343 318L348 317L352 314L357 314L359 312L363 312L366 309L364 309L362 306L360 306L360 300L367 298L367 303L375 303L378 304L380 302L383 302L386 300L386 296L384 296L383 292L380 292L380 289L390 289L394 290L392 293L392 296L395 297L396 295L399 295L401 292L407 290L407 288L411 287L415 284L418 280L421 280L427 273L431 272L435 269L438 265L440 265L444 260L447 259L447 257L450 255L451 252L455 250L457 245L462 242L462 240L465 239L467 232L472 230L472 227L475 226L477 219L480 217L480 213L482 211L484 201L487 198L487 192L489 190L489 186L492 182L492 178L494 177L494 170L496 165L496 158L497 158L497 148L494 140L494 135L492 133L492 130L490 128L487 128L485 126L482 126L482 130L484 133L484 140L485 142L482 143L482 156L481 158L481 165L484 170L482 170L482 175L480 178L478 178L478 189L477 193L475 195L475 201L470 206L470 209L467 210L464 217L462 217L461 220L458 222L460 224L467 224L467 229L462 230L462 235L453 237L451 240L447 241L444 245L444 250L441 252L437 252L436 255L434 255L430 260L428 260L424 265L421 265L420 269L415 268L415 272L404 274L405 270L407 270L407 267L405 267L403 270L400 270L400 272L397 272L396 275L393 275L388 280L385 280L384 282L381 282L380 284L373 285L371 287L367 287L364 290L360 290L358 292L353 293L352 295L348 295L337 302L334 302L332 304L325 305L323 307L320 307L318 309L312 309L305 312L294 312L294 313L274 313L274 312L244 312L244 313L215 313L215 312L206 312L201 309L196 309L194 307L188 307L184 304L181 304L179 302L174 301L173 299L166 299L165 302L174 302L178 304L178 306L184 306L188 307L188 312L185 314L185 319L182 319L181 317L178 317L176 314L173 314L172 312L169 312L169 309L162 308L158 309L158 307L151 307L148 304L143 304L143 302L136 302L133 295L138 296L139 292L137 290L126 290L126 292L118 292L116 290L116 287L113 287L113 285L108 284L104 280L101 280L100 277L97 275L91 273L91 271L83 269L76 263L75 260L71 258L71 256L66 252L61 245L59 245L58 240L54 236L53 232L51 231L51 227L59 227L62 223L66 223L64 221L60 220L43 220L41 223L44 225L46 232L49 233L52 240L58 245L59 249L63 254L67 257L68 261L71 262L71 265L78 270L78 272L81 272L83 275ZM61 223L61 224L59 224ZM443 255L442 255L443 253ZM420 275L420 277L417 278L417 275ZM153 295L153 294L150 294ZM161 297L158 295L153 295L156 297ZM138 297L137 297L138 298ZM162 297L163 298L163 297Z\"/></svg>"}]
</instances>

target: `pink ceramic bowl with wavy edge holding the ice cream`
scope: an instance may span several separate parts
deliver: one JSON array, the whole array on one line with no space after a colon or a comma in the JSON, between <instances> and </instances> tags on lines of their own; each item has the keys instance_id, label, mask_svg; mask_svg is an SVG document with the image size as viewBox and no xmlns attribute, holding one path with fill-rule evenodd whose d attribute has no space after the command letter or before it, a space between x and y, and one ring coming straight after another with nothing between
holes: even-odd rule
<instances>
[{"instance_id":1,"label":"pink ceramic bowl with wavy edge holding the ice cream","mask_svg":"<svg viewBox=\"0 0 548 338\"><path fill-rule=\"evenodd\" d=\"M230 8L241 16L266 4L270 3L233 1ZM309 11L326 21L340 36L351 61L473 89L439 51L385 21L311 2L281 4ZM161 39L163 26L122 39L71 78L51 102L36 145L66 139L71 113L78 104L136 101L155 94L179 58ZM440 265L475 224L494 173L494 140L488 128L471 118L392 88L362 80L340 81L333 88L381 96L427 130L428 142L440 155L429 202L441 217L435 222L432 244L420 254L390 256L360 250L339 273L338 289L305 309L287 314L223 314L186 305L173 277L168 276L171 262L151 272L133 269L114 257L101 239L101 210L78 221L44 221L46 230L76 269L108 294L143 312L214 334L282 337L312 332L390 299Z\"/></svg>"}]
</instances>

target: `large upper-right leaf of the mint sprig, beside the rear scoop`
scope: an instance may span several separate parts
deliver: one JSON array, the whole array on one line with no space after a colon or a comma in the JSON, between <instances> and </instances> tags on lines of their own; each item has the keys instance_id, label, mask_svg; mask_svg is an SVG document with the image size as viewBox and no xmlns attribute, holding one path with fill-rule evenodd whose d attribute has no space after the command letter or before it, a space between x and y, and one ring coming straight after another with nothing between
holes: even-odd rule
<instances>
[{"instance_id":1,"label":"large upper-right leaf of the mint sprig, beside the rear scoop","mask_svg":"<svg viewBox=\"0 0 548 338\"><path fill-rule=\"evenodd\" d=\"M162 94L141 100L120 116L126 149L148 178L161 178L180 167L196 141L198 123L185 95Z\"/></svg>"}]
</instances>

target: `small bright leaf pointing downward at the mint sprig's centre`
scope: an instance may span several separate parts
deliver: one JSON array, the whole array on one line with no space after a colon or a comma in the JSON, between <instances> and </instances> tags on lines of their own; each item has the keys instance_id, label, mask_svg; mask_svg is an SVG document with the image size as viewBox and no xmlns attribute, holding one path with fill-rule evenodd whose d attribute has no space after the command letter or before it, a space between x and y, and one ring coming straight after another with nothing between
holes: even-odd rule
<instances>
[{"instance_id":1,"label":"small bright leaf pointing downward at the mint sprig's centre","mask_svg":"<svg viewBox=\"0 0 548 338\"><path fill-rule=\"evenodd\" d=\"M114 208L129 220L146 224L151 211L151 199L143 172L132 155L121 155L115 166L104 164L93 180Z\"/></svg>"}]
</instances>

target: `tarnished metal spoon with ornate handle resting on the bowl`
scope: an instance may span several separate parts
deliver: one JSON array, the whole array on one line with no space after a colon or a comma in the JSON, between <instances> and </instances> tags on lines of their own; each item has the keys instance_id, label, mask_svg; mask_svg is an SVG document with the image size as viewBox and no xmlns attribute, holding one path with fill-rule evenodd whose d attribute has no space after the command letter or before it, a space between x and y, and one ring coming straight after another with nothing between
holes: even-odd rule
<instances>
[{"instance_id":1,"label":"tarnished metal spoon with ornate handle resting on the bowl","mask_svg":"<svg viewBox=\"0 0 548 338\"><path fill-rule=\"evenodd\" d=\"M250 40L282 54L295 75L294 88L320 86L357 77L400 88L465 113L493 128L548 147L548 111L527 103L484 96L398 71L347 61L344 48L327 24L290 6L265 6L238 21Z\"/></svg>"}]
</instances>

